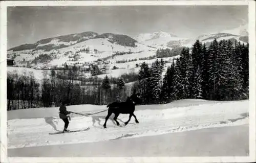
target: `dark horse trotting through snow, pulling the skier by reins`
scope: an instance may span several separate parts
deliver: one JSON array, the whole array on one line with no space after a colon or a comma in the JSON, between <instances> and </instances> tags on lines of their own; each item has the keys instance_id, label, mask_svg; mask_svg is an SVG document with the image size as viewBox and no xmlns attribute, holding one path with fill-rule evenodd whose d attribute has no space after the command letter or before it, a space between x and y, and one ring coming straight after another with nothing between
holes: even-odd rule
<instances>
[{"instance_id":1,"label":"dark horse trotting through snow, pulling the skier by reins","mask_svg":"<svg viewBox=\"0 0 256 163\"><path fill-rule=\"evenodd\" d=\"M131 120L131 117L133 116L135 118L135 122L139 123L136 116L134 115L135 111L135 105L141 103L141 100L139 98L139 94L133 94L131 97L127 98L125 102L113 102L106 107L109 107L108 115L106 115L104 128L106 128L106 121L110 118L110 115L112 113L115 114L114 120L116 121L117 126L119 126L119 122L117 121L118 115L121 114L130 114L129 120L125 122L124 124L127 125L129 121Z\"/></svg>"}]
</instances>

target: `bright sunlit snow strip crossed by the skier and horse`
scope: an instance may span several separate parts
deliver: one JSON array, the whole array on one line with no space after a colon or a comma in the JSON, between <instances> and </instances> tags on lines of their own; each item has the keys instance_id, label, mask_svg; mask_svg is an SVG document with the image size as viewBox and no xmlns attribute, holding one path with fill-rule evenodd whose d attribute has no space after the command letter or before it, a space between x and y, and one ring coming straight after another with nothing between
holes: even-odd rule
<instances>
[{"instance_id":1,"label":"bright sunlit snow strip crossed by the skier and horse","mask_svg":"<svg viewBox=\"0 0 256 163\"><path fill-rule=\"evenodd\" d=\"M181 101L184 102L184 101ZM136 106L141 107L141 106ZM72 106L69 106L72 110ZM102 110L105 106L102 106ZM103 129L104 115L92 117L73 117L69 129L88 131L49 135L62 130L63 122L56 117L36 119L14 119L8 121L8 148L21 148L46 145L77 144L109 141L119 138L159 135L211 127L224 127L248 124L248 100L199 104L167 109L141 109L135 111L140 122L135 123L132 117L127 126L128 114L120 114L117 126L112 114L106 129ZM112 119L112 120L111 120Z\"/></svg>"}]
</instances>

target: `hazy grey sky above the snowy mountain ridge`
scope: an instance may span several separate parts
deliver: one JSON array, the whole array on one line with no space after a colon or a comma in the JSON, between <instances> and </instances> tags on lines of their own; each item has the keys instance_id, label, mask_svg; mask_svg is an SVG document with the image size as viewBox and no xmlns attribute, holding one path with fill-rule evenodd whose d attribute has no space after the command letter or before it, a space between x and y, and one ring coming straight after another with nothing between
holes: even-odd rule
<instances>
[{"instance_id":1,"label":"hazy grey sky above the snowy mountain ridge","mask_svg":"<svg viewBox=\"0 0 256 163\"><path fill-rule=\"evenodd\" d=\"M191 38L244 22L247 6L8 7L7 48L87 31L131 37L163 31Z\"/></svg>"}]
</instances>

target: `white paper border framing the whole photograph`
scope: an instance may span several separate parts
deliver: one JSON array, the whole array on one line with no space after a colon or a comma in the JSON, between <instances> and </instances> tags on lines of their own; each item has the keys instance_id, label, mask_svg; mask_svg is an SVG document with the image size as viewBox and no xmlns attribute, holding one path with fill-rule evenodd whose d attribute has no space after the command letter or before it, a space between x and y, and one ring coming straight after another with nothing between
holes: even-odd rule
<instances>
[{"instance_id":1,"label":"white paper border framing the whole photograph","mask_svg":"<svg viewBox=\"0 0 256 163\"><path fill-rule=\"evenodd\" d=\"M3 1L0 2L1 162L254 162L255 157L255 1ZM7 7L11 6L248 6L249 20L249 156L245 157L8 157L7 155Z\"/></svg>"}]
</instances>

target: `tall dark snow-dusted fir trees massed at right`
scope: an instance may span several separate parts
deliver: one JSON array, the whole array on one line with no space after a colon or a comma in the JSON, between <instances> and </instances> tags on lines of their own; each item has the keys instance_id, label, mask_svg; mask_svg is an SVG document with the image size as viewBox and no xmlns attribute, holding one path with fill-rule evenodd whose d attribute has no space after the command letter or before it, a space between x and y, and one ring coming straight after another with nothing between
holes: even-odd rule
<instances>
[{"instance_id":1,"label":"tall dark snow-dusted fir trees massed at right","mask_svg":"<svg viewBox=\"0 0 256 163\"><path fill-rule=\"evenodd\" d=\"M248 99L249 44L230 40L212 41L208 48L199 40L191 53L183 48L161 80L162 65L158 60L151 68L146 63L139 72L139 90L143 103L165 103L197 98L206 100Z\"/></svg>"}]
</instances>

